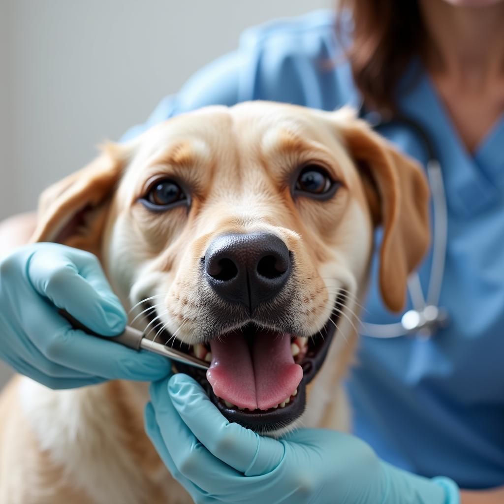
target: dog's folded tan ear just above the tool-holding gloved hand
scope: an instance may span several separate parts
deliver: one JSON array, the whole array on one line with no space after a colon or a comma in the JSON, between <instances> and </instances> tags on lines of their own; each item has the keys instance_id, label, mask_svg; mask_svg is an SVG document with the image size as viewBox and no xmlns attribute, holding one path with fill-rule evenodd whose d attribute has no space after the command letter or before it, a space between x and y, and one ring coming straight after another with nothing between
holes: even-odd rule
<instances>
[{"instance_id":1,"label":"dog's folded tan ear just above the tool-holding gloved hand","mask_svg":"<svg viewBox=\"0 0 504 504\"><path fill-rule=\"evenodd\" d=\"M85 168L49 186L40 196L32 241L53 241L96 253L106 210L129 151L107 143Z\"/></svg>"}]
</instances>

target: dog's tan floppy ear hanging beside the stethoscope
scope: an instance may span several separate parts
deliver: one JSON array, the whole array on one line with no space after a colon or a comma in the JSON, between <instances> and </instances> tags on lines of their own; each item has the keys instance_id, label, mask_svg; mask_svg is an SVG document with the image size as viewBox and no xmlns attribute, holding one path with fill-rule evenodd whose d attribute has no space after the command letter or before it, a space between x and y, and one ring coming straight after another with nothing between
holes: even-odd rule
<instances>
[{"instance_id":1,"label":"dog's tan floppy ear hanging beside the stethoscope","mask_svg":"<svg viewBox=\"0 0 504 504\"><path fill-rule=\"evenodd\" d=\"M342 134L355 160L375 225L383 226L380 289L393 311L403 308L407 278L430 242L429 189L418 163L355 117L342 121Z\"/></svg>"}]
</instances>

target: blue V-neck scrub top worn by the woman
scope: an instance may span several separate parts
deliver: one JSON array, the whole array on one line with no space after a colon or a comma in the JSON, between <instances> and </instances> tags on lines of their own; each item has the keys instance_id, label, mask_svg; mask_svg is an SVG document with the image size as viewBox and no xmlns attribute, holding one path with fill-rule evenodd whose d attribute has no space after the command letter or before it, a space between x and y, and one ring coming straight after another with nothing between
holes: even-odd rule
<instances>
[{"instance_id":1,"label":"blue V-neck scrub top worn by the woman","mask_svg":"<svg viewBox=\"0 0 504 504\"><path fill-rule=\"evenodd\" d=\"M247 30L235 52L164 98L123 140L210 104L358 106L334 22L333 12L317 11ZM380 457L406 470L449 476L465 488L504 485L504 118L469 153L429 77L418 62L412 67L420 70L419 78L398 93L397 103L429 132L442 165L449 236L440 305L451 324L428 340L361 337L359 365L348 380L353 429ZM410 131L389 127L383 133L426 161ZM424 292L430 259L420 268ZM399 317L380 299L376 278L374 271L366 319L396 322Z\"/></svg>"}]
</instances>

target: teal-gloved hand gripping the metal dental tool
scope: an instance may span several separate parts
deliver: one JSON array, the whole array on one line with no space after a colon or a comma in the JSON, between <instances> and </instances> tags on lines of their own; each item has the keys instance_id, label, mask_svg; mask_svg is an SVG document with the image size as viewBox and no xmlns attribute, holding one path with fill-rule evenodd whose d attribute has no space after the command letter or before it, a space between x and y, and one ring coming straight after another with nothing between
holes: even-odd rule
<instances>
[{"instance_id":1,"label":"teal-gloved hand gripping the metal dental tool","mask_svg":"<svg viewBox=\"0 0 504 504\"><path fill-rule=\"evenodd\" d=\"M170 372L165 357L73 330L57 308L104 336L120 334L127 322L92 254L37 243L0 261L0 359L52 389L159 380Z\"/></svg>"}]
</instances>

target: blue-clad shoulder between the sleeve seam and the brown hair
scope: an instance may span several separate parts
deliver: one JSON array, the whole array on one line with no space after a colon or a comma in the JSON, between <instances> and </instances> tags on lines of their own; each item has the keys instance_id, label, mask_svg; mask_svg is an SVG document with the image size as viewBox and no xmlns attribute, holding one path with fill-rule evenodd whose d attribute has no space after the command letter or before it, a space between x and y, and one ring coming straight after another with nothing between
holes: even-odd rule
<instances>
[{"instance_id":1,"label":"blue-clad shoulder between the sleeve seam and the brown hair","mask_svg":"<svg viewBox=\"0 0 504 504\"><path fill-rule=\"evenodd\" d=\"M346 16L317 10L247 29L240 47L248 86L241 96L324 109L348 102L354 86L341 40L348 26Z\"/></svg>"}]
</instances>

